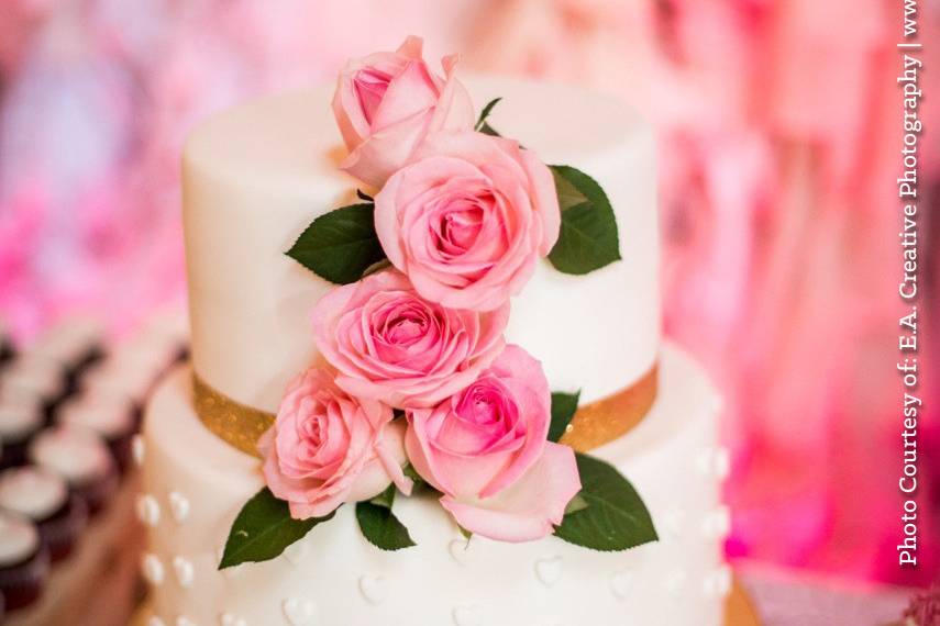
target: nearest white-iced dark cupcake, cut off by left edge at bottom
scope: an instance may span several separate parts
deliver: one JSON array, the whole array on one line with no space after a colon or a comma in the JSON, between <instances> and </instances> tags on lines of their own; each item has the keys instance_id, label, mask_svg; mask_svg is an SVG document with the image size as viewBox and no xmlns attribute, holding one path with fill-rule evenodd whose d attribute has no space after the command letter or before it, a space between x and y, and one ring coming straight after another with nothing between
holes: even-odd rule
<instances>
[{"instance_id":1,"label":"nearest white-iced dark cupcake, cut off by left edge at bottom","mask_svg":"<svg viewBox=\"0 0 940 626\"><path fill-rule=\"evenodd\" d=\"M7 613L33 604L43 594L49 556L29 519L0 512L0 595Z\"/></svg>"}]
</instances>

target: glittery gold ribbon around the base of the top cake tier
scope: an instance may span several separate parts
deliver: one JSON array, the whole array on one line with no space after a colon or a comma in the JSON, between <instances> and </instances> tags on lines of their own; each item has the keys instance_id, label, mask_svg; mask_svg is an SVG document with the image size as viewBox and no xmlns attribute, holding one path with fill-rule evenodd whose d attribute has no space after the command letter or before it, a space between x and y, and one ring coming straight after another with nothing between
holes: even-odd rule
<instances>
[{"instance_id":1,"label":"glittery gold ribbon around the base of the top cake tier","mask_svg":"<svg viewBox=\"0 0 940 626\"><path fill-rule=\"evenodd\" d=\"M656 400L657 368L612 395L579 406L561 443L586 452L622 436L642 422ZM217 436L239 450L259 456L257 440L275 415L246 406L192 375L196 414Z\"/></svg>"}]
</instances>

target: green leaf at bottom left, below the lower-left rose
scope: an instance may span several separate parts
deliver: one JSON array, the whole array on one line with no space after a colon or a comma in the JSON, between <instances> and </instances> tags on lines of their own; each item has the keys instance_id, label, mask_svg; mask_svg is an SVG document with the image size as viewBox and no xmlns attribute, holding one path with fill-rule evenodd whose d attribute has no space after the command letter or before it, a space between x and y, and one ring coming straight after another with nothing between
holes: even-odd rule
<instances>
[{"instance_id":1,"label":"green leaf at bottom left, below the lower-left rose","mask_svg":"<svg viewBox=\"0 0 940 626\"><path fill-rule=\"evenodd\" d=\"M294 519L287 502L278 500L269 489L264 488L245 503L235 517L219 569L246 561L268 561L314 526L332 517L333 513L325 517Z\"/></svg>"}]
</instances>

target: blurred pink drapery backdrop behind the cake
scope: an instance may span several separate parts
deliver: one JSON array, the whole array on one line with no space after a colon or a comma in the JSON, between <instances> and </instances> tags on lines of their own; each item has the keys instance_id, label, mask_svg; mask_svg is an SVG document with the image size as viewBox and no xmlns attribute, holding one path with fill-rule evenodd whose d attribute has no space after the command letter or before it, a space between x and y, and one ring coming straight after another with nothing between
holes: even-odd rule
<instances>
[{"instance_id":1,"label":"blurred pink drapery backdrop behind the cake","mask_svg":"<svg viewBox=\"0 0 940 626\"><path fill-rule=\"evenodd\" d=\"M930 494L940 493L940 467L926 450L921 566L895 564L900 2L428 7L4 2L2 316L29 337L90 310L120 333L153 308L180 302L178 158L192 124L422 34L431 57L456 49L474 69L584 82L630 101L660 128L665 327L707 364L728 399L729 554L928 582L938 563L930 537L940 495L931 504ZM925 42L940 34L936 4L930 10L921 3ZM931 48L926 55L926 67L940 67ZM932 128L940 100L924 107ZM936 152L924 156L927 243L938 228L926 209L940 164ZM936 271L935 259L922 280L936 286ZM940 401L930 382L921 385L927 406ZM922 428L936 459L940 435L929 418Z\"/></svg>"}]
</instances>

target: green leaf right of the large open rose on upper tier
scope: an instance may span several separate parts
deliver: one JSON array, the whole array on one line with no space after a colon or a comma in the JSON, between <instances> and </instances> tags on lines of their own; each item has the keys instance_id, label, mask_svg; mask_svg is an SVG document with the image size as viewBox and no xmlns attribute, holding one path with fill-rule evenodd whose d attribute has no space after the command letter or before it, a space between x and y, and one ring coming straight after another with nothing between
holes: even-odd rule
<instances>
[{"instance_id":1,"label":"green leaf right of the large open rose on upper tier","mask_svg":"<svg viewBox=\"0 0 940 626\"><path fill-rule=\"evenodd\" d=\"M620 260L620 238L610 200L596 180L566 165L550 166L562 211L562 228L549 260L565 273L583 275Z\"/></svg>"}]
</instances>

